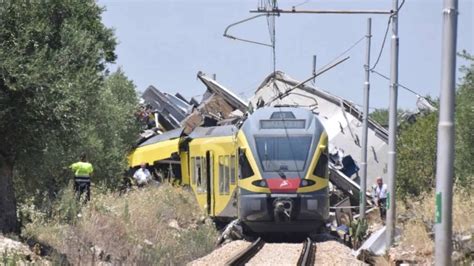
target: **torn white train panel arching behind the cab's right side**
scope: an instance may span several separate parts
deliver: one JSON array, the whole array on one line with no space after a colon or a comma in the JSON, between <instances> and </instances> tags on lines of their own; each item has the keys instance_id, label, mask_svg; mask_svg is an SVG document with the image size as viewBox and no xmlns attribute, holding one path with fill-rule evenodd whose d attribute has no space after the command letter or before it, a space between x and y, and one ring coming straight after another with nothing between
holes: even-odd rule
<instances>
[{"instance_id":1,"label":"torn white train panel arching behind the cab's right side","mask_svg":"<svg viewBox=\"0 0 474 266\"><path fill-rule=\"evenodd\" d=\"M334 179L344 183L352 194L357 195L362 138L362 112L354 104L326 91L308 85L294 86L300 82L283 72L269 75L250 99L253 108L261 106L294 105L312 110L324 124L329 137ZM276 96L282 95L281 98ZM272 99L275 99L271 101ZM387 171L387 131L369 120L367 151L367 182L375 183L377 176ZM350 157L349 157L350 156ZM338 170L337 173L335 170ZM357 191L354 191L357 190ZM357 193L357 194L356 194ZM354 197L356 198L356 197Z\"/></svg>"}]
</instances>

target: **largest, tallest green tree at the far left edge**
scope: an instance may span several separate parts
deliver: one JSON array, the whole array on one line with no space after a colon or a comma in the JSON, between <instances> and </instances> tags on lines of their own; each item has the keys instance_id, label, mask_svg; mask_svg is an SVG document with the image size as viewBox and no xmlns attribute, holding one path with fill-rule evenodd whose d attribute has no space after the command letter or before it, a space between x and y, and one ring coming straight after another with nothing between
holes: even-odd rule
<instances>
[{"instance_id":1,"label":"largest, tallest green tree at the far left edge","mask_svg":"<svg viewBox=\"0 0 474 266\"><path fill-rule=\"evenodd\" d=\"M51 151L64 161L81 144L81 125L94 119L106 63L116 58L101 12L93 0L0 6L2 232L18 230L14 171L40 168Z\"/></svg>"}]
</instances>

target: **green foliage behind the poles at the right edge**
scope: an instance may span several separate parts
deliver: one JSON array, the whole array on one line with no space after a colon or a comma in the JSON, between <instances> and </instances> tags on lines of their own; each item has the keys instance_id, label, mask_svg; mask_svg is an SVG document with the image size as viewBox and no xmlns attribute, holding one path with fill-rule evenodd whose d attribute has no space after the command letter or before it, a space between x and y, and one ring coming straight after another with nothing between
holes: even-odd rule
<instances>
[{"instance_id":1,"label":"green foliage behind the poles at the right edge","mask_svg":"<svg viewBox=\"0 0 474 266\"><path fill-rule=\"evenodd\" d=\"M471 191L474 179L474 58L466 52L462 57L471 62L461 67L464 76L456 91L455 114L455 182ZM398 139L397 191L402 197L419 195L435 187L436 136L438 112L423 114L415 123L402 124Z\"/></svg>"}]
</instances>

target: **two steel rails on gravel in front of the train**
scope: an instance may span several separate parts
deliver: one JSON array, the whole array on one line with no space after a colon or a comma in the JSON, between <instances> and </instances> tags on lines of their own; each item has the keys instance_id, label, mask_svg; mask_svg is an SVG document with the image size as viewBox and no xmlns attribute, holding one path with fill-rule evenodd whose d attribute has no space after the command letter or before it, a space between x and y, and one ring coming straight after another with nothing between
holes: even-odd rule
<instances>
[{"instance_id":1,"label":"two steel rails on gravel in front of the train","mask_svg":"<svg viewBox=\"0 0 474 266\"><path fill-rule=\"evenodd\" d=\"M256 256L260 252L260 250L262 250L265 244L266 243L261 238L258 238L246 249L242 250L240 253L238 253L233 258L228 260L225 263L225 265L230 265L230 266L245 265L254 256ZM298 261L296 262L296 265L298 266L314 265L315 252L316 252L316 246L313 244L313 241L310 238L307 238L303 242L303 248L299 255Z\"/></svg>"}]
</instances>

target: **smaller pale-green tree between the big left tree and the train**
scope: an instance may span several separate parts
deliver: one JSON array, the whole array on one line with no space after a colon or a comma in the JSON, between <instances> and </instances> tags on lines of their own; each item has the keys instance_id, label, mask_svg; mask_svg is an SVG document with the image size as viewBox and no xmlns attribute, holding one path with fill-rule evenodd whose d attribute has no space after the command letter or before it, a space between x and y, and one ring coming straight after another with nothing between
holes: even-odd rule
<instances>
[{"instance_id":1,"label":"smaller pale-green tree between the big left tree and the train","mask_svg":"<svg viewBox=\"0 0 474 266\"><path fill-rule=\"evenodd\" d=\"M135 117L138 98L135 85L118 69L105 80L93 110L95 119L84 125L82 138L94 162L95 180L109 186L118 184L127 167L127 152L137 140L140 127Z\"/></svg>"}]
</instances>

